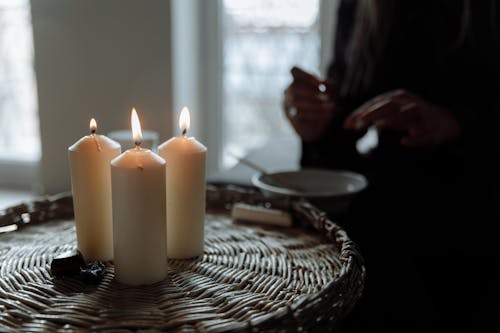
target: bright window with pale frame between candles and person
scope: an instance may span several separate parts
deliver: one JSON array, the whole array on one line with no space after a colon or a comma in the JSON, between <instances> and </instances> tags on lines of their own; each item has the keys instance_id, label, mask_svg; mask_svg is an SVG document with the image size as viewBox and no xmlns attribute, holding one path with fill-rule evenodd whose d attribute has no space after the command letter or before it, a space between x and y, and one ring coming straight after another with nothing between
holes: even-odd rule
<instances>
[{"instance_id":1,"label":"bright window with pale frame between candles and person","mask_svg":"<svg viewBox=\"0 0 500 333\"><path fill-rule=\"evenodd\" d=\"M290 68L325 73L338 0L171 3L173 109L192 106L208 175L234 165L233 155L294 136L281 107Z\"/></svg>"}]
</instances>

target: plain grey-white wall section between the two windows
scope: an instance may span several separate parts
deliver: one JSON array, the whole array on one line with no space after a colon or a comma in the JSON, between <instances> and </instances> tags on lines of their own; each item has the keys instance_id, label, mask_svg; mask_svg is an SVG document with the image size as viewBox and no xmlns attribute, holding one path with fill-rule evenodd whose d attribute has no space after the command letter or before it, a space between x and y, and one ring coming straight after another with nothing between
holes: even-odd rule
<instances>
[{"instance_id":1,"label":"plain grey-white wall section between the two windows","mask_svg":"<svg viewBox=\"0 0 500 333\"><path fill-rule=\"evenodd\" d=\"M170 2L31 1L46 193L70 189L67 148L88 133L130 128L172 135ZM174 110L175 111L175 110Z\"/></svg>"}]
</instances>

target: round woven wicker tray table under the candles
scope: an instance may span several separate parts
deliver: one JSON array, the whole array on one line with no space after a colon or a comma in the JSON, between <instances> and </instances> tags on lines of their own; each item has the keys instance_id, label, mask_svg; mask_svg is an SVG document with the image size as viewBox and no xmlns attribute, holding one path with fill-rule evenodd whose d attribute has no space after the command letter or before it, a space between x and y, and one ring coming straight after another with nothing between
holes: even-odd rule
<instances>
[{"instance_id":1,"label":"round woven wicker tray table under the candles","mask_svg":"<svg viewBox=\"0 0 500 333\"><path fill-rule=\"evenodd\" d=\"M299 225L235 224L231 204L287 209ZM207 189L205 253L169 260L167 278L145 287L113 279L55 279L50 262L76 247L71 196L0 213L2 331L328 331L360 297L362 258L338 225L305 201L273 199L237 187ZM43 223L42 223L43 222Z\"/></svg>"}]
</instances>

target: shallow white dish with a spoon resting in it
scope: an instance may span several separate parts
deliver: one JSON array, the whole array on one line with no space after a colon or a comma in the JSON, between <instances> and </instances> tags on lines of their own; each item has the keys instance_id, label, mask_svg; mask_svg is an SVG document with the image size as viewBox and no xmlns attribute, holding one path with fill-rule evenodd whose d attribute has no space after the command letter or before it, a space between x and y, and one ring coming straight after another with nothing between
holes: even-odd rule
<instances>
[{"instance_id":1,"label":"shallow white dish with a spoon resting in it","mask_svg":"<svg viewBox=\"0 0 500 333\"><path fill-rule=\"evenodd\" d=\"M344 197L368 186L366 178L343 170L302 169L263 175L255 174L252 183L267 194L307 198Z\"/></svg>"}]
</instances>

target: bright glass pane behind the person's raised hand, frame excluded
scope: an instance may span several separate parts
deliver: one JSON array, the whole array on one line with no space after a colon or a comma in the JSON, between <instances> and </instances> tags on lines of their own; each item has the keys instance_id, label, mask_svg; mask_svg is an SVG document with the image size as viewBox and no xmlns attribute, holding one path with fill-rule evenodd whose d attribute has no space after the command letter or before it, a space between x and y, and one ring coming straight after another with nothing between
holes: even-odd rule
<instances>
[{"instance_id":1,"label":"bright glass pane behind the person's raised hand, frame excluded","mask_svg":"<svg viewBox=\"0 0 500 333\"><path fill-rule=\"evenodd\" d=\"M319 68L319 0L224 0L223 167L293 135L281 107L290 68Z\"/></svg>"}]
</instances>

